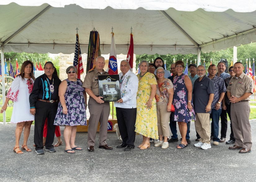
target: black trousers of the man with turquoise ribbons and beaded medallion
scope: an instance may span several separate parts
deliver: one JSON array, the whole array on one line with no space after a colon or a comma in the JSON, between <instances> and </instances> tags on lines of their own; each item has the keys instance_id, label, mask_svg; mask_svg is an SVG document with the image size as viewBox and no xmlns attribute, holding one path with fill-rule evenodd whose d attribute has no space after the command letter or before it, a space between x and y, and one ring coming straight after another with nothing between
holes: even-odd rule
<instances>
[{"instance_id":1,"label":"black trousers of the man with turquoise ribbons and beaded medallion","mask_svg":"<svg viewBox=\"0 0 256 182\"><path fill-rule=\"evenodd\" d=\"M35 132L34 132L34 143L36 150L43 149L43 127L45 120L47 118L47 136L45 147L54 148L52 145L54 141L55 125L53 125L56 112L57 112L58 102L48 103L43 101L36 102L36 113L35 113Z\"/></svg>"}]
</instances>

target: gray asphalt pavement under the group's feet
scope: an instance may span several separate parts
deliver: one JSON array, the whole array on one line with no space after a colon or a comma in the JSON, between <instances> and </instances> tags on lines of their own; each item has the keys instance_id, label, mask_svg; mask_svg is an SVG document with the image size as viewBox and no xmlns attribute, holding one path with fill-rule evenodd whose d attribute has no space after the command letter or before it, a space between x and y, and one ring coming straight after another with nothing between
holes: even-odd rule
<instances>
[{"instance_id":1,"label":"gray asphalt pavement under the group's feet","mask_svg":"<svg viewBox=\"0 0 256 182\"><path fill-rule=\"evenodd\" d=\"M12 150L15 145L16 125L0 125L0 181L256 181L256 120L250 123L253 147L252 152L247 154L239 154L239 150L229 150L228 147L232 145L225 142L218 146L212 145L208 150L194 147L194 122L191 122L191 144L184 149L176 148L179 141L169 143L168 149L154 147L151 143L149 149L140 150L137 146L141 143L142 136L137 135L134 150L123 151L116 148L121 141L112 132L108 133L107 143L113 150L98 148L97 133L95 151L88 152L87 133L78 132L76 145L84 150L76 151L75 154L65 153L64 127L61 126L63 145L55 147L56 153L45 151L44 155L35 153L32 125L28 140L32 152L16 154ZM227 140L229 134L230 127ZM180 134L178 135L180 138ZM23 133L20 147L22 140Z\"/></svg>"}]
</instances>

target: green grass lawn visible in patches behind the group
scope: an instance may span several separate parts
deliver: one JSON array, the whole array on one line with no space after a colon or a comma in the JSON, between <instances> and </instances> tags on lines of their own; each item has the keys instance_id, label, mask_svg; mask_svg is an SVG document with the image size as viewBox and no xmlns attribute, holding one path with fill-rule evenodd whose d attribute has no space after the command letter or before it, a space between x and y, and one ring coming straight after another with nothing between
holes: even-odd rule
<instances>
[{"instance_id":1,"label":"green grass lawn visible in patches behind the group","mask_svg":"<svg viewBox=\"0 0 256 182\"><path fill-rule=\"evenodd\" d=\"M256 103L250 103L250 105L256 106ZM13 107L7 107L7 109L6 109L6 122L10 122L11 121L12 109L13 109ZM116 119L115 107L113 108L113 110L114 110L114 119ZM111 116L112 116L112 112L113 112L112 111L112 102L110 102L110 115ZM249 120L252 120L252 119L256 119L256 108L251 108L251 113L250 113L250 116L249 116ZM0 122L2 122L2 121L3 121L3 114L0 114ZM34 124L34 122L32 123L32 125L33 124Z\"/></svg>"}]
</instances>

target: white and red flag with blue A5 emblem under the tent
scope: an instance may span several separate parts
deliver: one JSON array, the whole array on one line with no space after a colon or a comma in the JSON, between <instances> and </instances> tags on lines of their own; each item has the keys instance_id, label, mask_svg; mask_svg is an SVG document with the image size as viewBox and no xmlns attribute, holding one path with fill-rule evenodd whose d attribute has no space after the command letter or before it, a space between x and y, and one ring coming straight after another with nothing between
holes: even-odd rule
<instances>
[{"instance_id":1,"label":"white and red flag with blue A5 emblem under the tent","mask_svg":"<svg viewBox=\"0 0 256 182\"><path fill-rule=\"evenodd\" d=\"M111 41L111 46L110 46L108 73L109 74L118 74L116 49L115 49L115 38L114 38L114 33L112 32L111 34L112 34L112 41Z\"/></svg>"}]
</instances>

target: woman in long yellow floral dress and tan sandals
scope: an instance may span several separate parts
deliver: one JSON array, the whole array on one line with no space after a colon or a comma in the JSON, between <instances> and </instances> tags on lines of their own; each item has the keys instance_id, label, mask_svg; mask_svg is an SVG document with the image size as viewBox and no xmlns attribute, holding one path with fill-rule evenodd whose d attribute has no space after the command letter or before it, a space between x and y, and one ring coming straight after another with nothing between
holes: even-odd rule
<instances>
[{"instance_id":1,"label":"woman in long yellow floral dress and tan sandals","mask_svg":"<svg viewBox=\"0 0 256 182\"><path fill-rule=\"evenodd\" d=\"M149 139L158 139L157 115L156 115L156 79L155 75L148 71L148 62L141 61L141 73L137 92L137 116L135 132L143 135L143 142L138 146L141 150L150 147Z\"/></svg>"}]
</instances>

